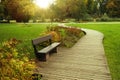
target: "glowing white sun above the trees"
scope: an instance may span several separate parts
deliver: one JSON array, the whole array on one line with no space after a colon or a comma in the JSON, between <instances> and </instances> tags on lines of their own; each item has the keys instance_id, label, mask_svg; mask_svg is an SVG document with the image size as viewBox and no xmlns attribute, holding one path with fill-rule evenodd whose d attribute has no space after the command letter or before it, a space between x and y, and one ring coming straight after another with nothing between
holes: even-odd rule
<instances>
[{"instance_id":1,"label":"glowing white sun above the trees","mask_svg":"<svg viewBox=\"0 0 120 80\"><path fill-rule=\"evenodd\" d=\"M54 0L34 0L34 3L40 8L48 8Z\"/></svg>"}]
</instances>

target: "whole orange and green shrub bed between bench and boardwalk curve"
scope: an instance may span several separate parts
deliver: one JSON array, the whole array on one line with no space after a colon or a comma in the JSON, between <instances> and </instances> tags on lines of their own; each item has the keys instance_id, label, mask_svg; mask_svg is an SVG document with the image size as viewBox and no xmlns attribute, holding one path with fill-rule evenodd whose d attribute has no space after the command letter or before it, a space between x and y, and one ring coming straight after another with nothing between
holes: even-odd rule
<instances>
[{"instance_id":1,"label":"whole orange and green shrub bed between bench and boardwalk curve","mask_svg":"<svg viewBox=\"0 0 120 80\"><path fill-rule=\"evenodd\" d=\"M47 27L47 33L53 36L53 41L60 41L65 47L72 47L84 35L81 29L63 26Z\"/></svg>"}]
</instances>

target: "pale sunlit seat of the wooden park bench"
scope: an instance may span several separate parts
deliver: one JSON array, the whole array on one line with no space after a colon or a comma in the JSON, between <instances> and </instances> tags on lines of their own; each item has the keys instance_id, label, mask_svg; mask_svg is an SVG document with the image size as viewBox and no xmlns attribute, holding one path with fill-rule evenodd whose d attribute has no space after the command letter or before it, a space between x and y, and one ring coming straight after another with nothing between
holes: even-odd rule
<instances>
[{"instance_id":1,"label":"pale sunlit seat of the wooden park bench","mask_svg":"<svg viewBox=\"0 0 120 80\"><path fill-rule=\"evenodd\" d=\"M58 43L58 42L52 43L51 45L49 45L49 46L43 48L42 50L38 51L38 53L48 53L53 48L56 48L59 45L60 45L60 43Z\"/></svg>"}]
</instances>

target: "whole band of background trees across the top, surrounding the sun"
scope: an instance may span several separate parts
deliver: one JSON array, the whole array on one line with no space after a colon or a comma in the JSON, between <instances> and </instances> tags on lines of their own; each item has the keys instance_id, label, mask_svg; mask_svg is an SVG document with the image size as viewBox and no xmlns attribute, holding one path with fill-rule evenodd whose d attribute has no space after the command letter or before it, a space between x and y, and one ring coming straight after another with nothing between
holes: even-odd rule
<instances>
[{"instance_id":1,"label":"whole band of background trees across the top, surrounding the sun","mask_svg":"<svg viewBox=\"0 0 120 80\"><path fill-rule=\"evenodd\" d=\"M48 9L41 9L34 0L1 0L0 20L15 19L28 22L29 19L50 18L64 20L74 18L77 21L87 17L120 17L120 0L55 0Z\"/></svg>"}]
</instances>

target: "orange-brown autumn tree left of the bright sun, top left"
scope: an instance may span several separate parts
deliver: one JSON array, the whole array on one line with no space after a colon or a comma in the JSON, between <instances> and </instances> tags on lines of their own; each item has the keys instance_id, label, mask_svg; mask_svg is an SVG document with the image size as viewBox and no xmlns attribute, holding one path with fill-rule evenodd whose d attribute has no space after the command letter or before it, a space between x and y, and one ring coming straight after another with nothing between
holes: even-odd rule
<instances>
[{"instance_id":1,"label":"orange-brown autumn tree left of the bright sun, top left","mask_svg":"<svg viewBox=\"0 0 120 80\"><path fill-rule=\"evenodd\" d=\"M30 0L8 0L6 9L17 22L28 22L34 15L34 4Z\"/></svg>"}]
</instances>

